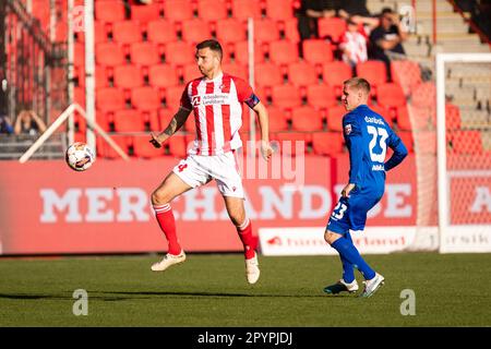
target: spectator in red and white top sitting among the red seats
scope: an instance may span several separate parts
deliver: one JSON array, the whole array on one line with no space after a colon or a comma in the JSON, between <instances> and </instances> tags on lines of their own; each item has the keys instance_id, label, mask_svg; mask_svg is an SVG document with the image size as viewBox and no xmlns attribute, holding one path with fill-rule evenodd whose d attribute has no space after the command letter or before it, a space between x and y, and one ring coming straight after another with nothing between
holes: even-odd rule
<instances>
[{"instance_id":1,"label":"spectator in red and white top sitting among the red seats","mask_svg":"<svg viewBox=\"0 0 491 349\"><path fill-rule=\"evenodd\" d=\"M342 37L339 49L343 52L343 61L355 69L358 63L368 60L367 35L364 32L360 32L360 25L358 25L351 17L349 17L346 22L347 31ZM362 26L361 31L363 31Z\"/></svg>"}]
</instances>

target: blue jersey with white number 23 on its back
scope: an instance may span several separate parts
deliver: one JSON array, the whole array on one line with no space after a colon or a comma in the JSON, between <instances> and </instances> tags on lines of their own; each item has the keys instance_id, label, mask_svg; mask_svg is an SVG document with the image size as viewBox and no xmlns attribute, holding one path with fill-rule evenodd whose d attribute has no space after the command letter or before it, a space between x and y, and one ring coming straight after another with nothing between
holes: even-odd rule
<instances>
[{"instance_id":1,"label":"blue jersey with white number 23 on its back","mask_svg":"<svg viewBox=\"0 0 491 349\"><path fill-rule=\"evenodd\" d=\"M366 105L343 118L343 130L349 151L349 183L361 191L383 194L385 171L397 166L407 155L404 143L384 118ZM387 147L394 154L385 163Z\"/></svg>"}]
</instances>

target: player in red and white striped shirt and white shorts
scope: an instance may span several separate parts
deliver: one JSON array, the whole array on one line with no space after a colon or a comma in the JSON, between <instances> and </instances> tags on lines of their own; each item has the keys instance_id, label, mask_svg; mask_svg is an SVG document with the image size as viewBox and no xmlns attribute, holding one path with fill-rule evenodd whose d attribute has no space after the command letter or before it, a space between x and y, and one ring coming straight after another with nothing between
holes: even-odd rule
<instances>
[{"instance_id":1,"label":"player in red and white striped shirt and white shorts","mask_svg":"<svg viewBox=\"0 0 491 349\"><path fill-rule=\"evenodd\" d=\"M247 82L221 71L223 50L218 41L211 39L197 44L195 57L203 76L185 85L180 108L169 125L158 135L152 133L151 143L160 147L193 112L196 125L193 147L152 194L157 221L169 243L168 253L152 265L152 270L161 272L185 261L185 253L177 238L170 202L214 179L244 248L247 280L255 284L260 277L255 251L258 240L252 236L251 221L246 215L242 179L235 153L242 146L239 129L242 124L242 103L246 103L258 116L261 153L266 161L270 160L273 149L267 111Z\"/></svg>"}]
</instances>

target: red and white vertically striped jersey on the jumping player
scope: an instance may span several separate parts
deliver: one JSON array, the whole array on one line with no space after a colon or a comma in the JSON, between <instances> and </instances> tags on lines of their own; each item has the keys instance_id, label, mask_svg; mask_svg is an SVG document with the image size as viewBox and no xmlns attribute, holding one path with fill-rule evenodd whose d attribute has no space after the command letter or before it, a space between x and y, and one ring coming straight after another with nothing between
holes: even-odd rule
<instances>
[{"instance_id":1,"label":"red and white vertically striped jersey on the jumping player","mask_svg":"<svg viewBox=\"0 0 491 349\"><path fill-rule=\"evenodd\" d=\"M189 82L181 108L193 111L196 139L188 153L216 155L240 148L242 103L253 96L246 81L226 73L213 80L200 77Z\"/></svg>"}]
</instances>

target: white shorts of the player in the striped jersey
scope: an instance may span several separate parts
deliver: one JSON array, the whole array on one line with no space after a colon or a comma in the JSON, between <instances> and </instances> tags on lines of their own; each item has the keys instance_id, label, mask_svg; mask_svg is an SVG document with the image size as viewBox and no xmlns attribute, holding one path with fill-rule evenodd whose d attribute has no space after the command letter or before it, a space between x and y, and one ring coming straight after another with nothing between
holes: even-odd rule
<instances>
[{"instance_id":1,"label":"white shorts of the player in the striped jersey","mask_svg":"<svg viewBox=\"0 0 491 349\"><path fill-rule=\"evenodd\" d=\"M188 155L173 168L173 172L192 188L215 179L223 196L244 197L233 152L209 156Z\"/></svg>"}]
</instances>

